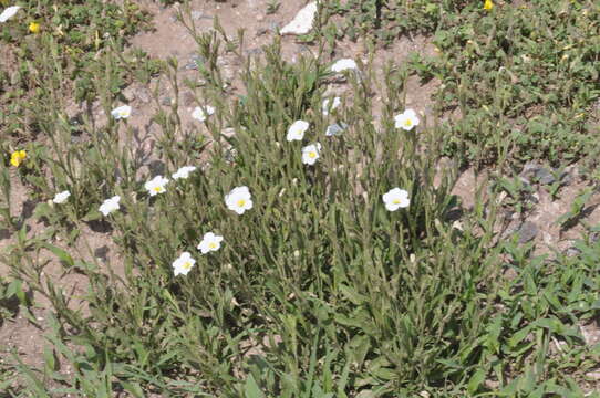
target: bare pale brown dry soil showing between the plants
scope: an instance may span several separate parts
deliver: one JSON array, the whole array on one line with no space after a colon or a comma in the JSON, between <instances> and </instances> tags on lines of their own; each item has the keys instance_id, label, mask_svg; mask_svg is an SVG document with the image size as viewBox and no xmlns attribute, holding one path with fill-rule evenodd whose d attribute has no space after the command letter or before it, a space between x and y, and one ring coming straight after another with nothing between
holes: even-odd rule
<instances>
[{"instance_id":1,"label":"bare pale brown dry soil showing between the plants","mask_svg":"<svg viewBox=\"0 0 600 398\"><path fill-rule=\"evenodd\" d=\"M149 32L138 33L130 41L133 48L139 48L147 52L153 57L167 59L175 57L178 61L177 78L179 82L197 78L195 70L195 60L197 59L197 44L187 29L177 19L178 6L162 7L157 2L149 0L137 1L144 9L153 15L153 24L155 29ZM195 0L190 1L190 17L198 32L206 32L213 29L215 18L218 18L225 32L228 36L236 36L239 29L245 30L245 46L246 55L260 56L261 48L272 42L276 33L276 28L281 28L293 19L297 12L303 7L301 2L282 1L281 7L273 14L267 14L268 0L232 0L227 2L214 2ZM285 35L281 38L282 56L293 62L300 54L317 55L318 49L310 44L299 43L293 35ZM426 38L403 38L397 40L389 49L376 50L373 56L373 67L375 72L381 72L386 62L402 63L413 51L426 53L427 55L435 54L433 45ZM331 59L350 57L354 60L369 61L366 45L360 40L356 43L349 41L340 41L335 44ZM241 62L235 55L225 54L219 57L223 75L229 81L228 93L234 95L239 93L241 84L237 78L237 73L240 70ZM381 83L381 82L380 82ZM438 82L431 81L423 85L417 77L412 76L407 82L406 107L412 107L417 112L430 115L432 113L433 102L431 96L438 85ZM155 104L151 96L154 87L158 87L159 102ZM346 96L351 87L349 84L335 83L331 84L327 93L330 95ZM382 88L375 90L374 104L381 103ZM158 106L169 106L174 101L174 92L165 78L157 77L149 85L144 86L134 83L124 91L124 96L134 112L128 119L128 124L136 130L139 137L138 145L141 150L146 154L148 159L147 167L152 168L152 148L154 147L154 135L157 133L158 126L155 125L151 117L157 111ZM190 117L192 109L197 106L195 93L187 88L182 88L179 104L183 104L180 117L186 128L197 129L197 123ZM350 100L351 101L351 100ZM74 116L83 111L83 105L72 104L69 112ZM92 109L94 119L97 123L104 123L106 115L103 114L100 104ZM375 119L381 115L381 108L375 106ZM449 115L449 117L456 117ZM535 165L535 167L538 167ZM541 169L539 166L537 170ZM538 171L535 171L538 172ZM508 238L514 233L519 233L524 241L534 241L536 243L536 253L549 253L552 255L555 250L567 251L572 247L575 239L579 238L582 231L581 226L576 226L567 231L560 230L557 227L557 218L568 211L570 203L579 191L586 187L586 181L578 174L577 167L568 169L568 184L562 188L561 195L554 200L547 189L541 185L529 182L530 177L526 172L521 174L524 180L528 181L532 187L532 209L527 213L526 218L516 218L513 213L505 214L505 223L499 227L499 232L503 238ZM13 178L12 184L14 209L23 213L28 226L30 237L43 237L44 224L35 221L31 216L35 203L27 200L27 190L20 185L18 179ZM479 185L487 184L486 179L479 175L476 178L473 170L464 170L459 177L454 193L462 199L465 210L473 206L475 190ZM587 211L587 221L590 224L600 222L600 193L596 192ZM82 231L82 238L75 244L75 255L83 259L96 258L106 268L111 266L117 274L122 272L117 248L111 240L108 233L101 228L89 228ZM6 250L13 243L13 238L8 231L0 231L0 251ZM52 242L61 245L61 242ZM64 245L63 245L64 247ZM70 248L73 250L73 248ZM50 252L40 252L41 261L48 261L44 268L45 277L53 280L60 286L65 289L73 307L79 307L77 296L85 293L86 281L80 274L62 274L62 268L56 263L56 260ZM8 274L6 264L0 263L0 274ZM33 296L35 307L32 313L35 317L37 325L30 322L23 314L18 314L11 322L6 322L0 325L0 360L9 360L11 350L15 350L20 358L30 365L41 366L43 363L43 347L48 344L44 338L44 328L48 327L49 303L48 301L35 294ZM83 308L85 311L85 308ZM600 342L600 329L597 323L581 325L582 333L588 344ZM69 369L62 369L69 373ZM598 375L600 378L600 375ZM157 397L157 396L156 396Z\"/></svg>"}]
</instances>

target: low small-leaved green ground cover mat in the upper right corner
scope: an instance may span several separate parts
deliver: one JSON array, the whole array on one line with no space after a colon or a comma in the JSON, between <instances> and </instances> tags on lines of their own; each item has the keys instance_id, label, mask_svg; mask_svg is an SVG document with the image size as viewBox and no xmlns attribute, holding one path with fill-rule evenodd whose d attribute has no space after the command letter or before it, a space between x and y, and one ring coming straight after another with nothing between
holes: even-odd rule
<instances>
[{"instance_id":1,"label":"low small-leaved green ground cover mat in the upper right corner","mask_svg":"<svg viewBox=\"0 0 600 398\"><path fill-rule=\"evenodd\" d=\"M414 54L411 72L442 84L436 95L461 122L447 151L467 145L467 158L555 165L589 157L598 145L600 7L593 1L338 1L345 15L338 36L433 33L437 56ZM475 128L474 128L475 126ZM508 139L507 139L508 138ZM597 167L593 167L597 169Z\"/></svg>"}]
</instances>

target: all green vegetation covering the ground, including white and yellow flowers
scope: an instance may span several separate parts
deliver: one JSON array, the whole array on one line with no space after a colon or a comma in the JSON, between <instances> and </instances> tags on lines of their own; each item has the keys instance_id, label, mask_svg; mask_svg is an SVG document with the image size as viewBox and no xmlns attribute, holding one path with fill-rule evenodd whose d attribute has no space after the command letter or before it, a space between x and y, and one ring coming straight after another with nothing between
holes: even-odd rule
<instances>
[{"instance_id":1,"label":"all green vegetation covering the ground, including white and yellow flowers","mask_svg":"<svg viewBox=\"0 0 600 398\"><path fill-rule=\"evenodd\" d=\"M33 292L51 311L43 365L12 353L0 363L0 396L593 389L587 375L600 345L580 326L600 310L600 228L586 226L568 255L534 254L534 242L498 239L496 226L503 206L525 211L527 188L506 170L529 159L593 170L598 4L323 2L323 34L302 38L321 55L342 35L370 34L375 45L434 38L439 56L385 69L377 117L369 62L341 72L352 90L335 101L325 88L340 76L324 56L289 63L275 40L251 59L238 51L241 35L224 38L218 23L196 31L183 7L199 84L178 80L175 59L123 53L123 38L151 23L134 2L2 6L14 4L22 9L0 25L11 60L0 61L1 211L11 234L0 253L10 269L0 275L0 322L19 311L37 323ZM225 52L244 65L235 98L217 62ZM406 108L411 74L441 82L430 117ZM132 145L136 109L121 95L156 75L175 98L183 86L195 93L193 128L177 101L162 105L154 93L161 172ZM69 117L70 98L100 102L106 123ZM443 122L453 107L461 117ZM465 165L486 165L490 176L472 209L452 193ZM17 181L45 227L39 234L11 207ZM513 201L503 205L506 192ZM560 222L580 222L591 192ZM113 239L118 261L86 252L91 226ZM85 277L86 292L72 297L45 275L49 259Z\"/></svg>"}]
</instances>

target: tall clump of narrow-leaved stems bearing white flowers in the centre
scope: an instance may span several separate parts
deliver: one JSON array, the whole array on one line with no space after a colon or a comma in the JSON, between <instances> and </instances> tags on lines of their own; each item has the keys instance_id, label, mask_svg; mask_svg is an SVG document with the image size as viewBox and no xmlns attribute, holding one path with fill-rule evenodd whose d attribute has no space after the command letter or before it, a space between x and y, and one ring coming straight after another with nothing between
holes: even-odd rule
<instances>
[{"instance_id":1,"label":"tall clump of narrow-leaved stems bearing white flowers in the centre","mask_svg":"<svg viewBox=\"0 0 600 398\"><path fill-rule=\"evenodd\" d=\"M210 66L207 72L216 73ZM177 373L201 384L206 394L230 396L254 388L240 375L254 375L269 395L290 397L309 391L344 396L358 386L379 394L408 391L468 375L479 360L475 347L484 331L475 320L490 311L489 293L478 291L492 286L498 261L482 238L446 221L455 205L449 189L456 174L436 171L442 136L411 112L394 122L393 113L403 109L399 102L387 104L375 127L371 97L358 82L354 107L324 116L328 73L312 59L286 63L276 43L267 49L265 64L245 69L246 95L232 106L215 101L220 85L208 85L204 95L215 112L197 123L214 142L206 166L186 178L139 181L131 155L114 139L114 130L127 128L126 118L111 122L105 132L90 130L97 138L85 146L106 156L99 158L79 155L84 151L71 144L63 117L50 113L45 132L54 147L39 161L48 163L53 178L64 179L61 189L72 193L56 208L74 208L70 221L77 226L83 209L120 197L118 207L105 208L103 217L122 250L123 287L112 273L106 279L94 266L75 266L90 279L93 325L69 310L60 290L49 293L61 324L77 331L73 342L159 379ZM173 151L193 145L180 139L196 139L169 133L180 123L178 112L175 104L159 115L169 174L199 160ZM348 122L348 128L327 137L333 117ZM307 119L301 143L285 139L300 118ZM236 134L226 142L220 135L227 126ZM113 138L103 140L103 135ZM304 144L317 142L318 156L304 149L310 161L302 161ZM232 163L225 159L229 146L236 149ZM122 178L112 177L115 168ZM77 189L79 184L100 184L102 192ZM236 187L247 190L240 196ZM396 189L397 199L396 187L403 189ZM216 235L223 240L211 241ZM213 242L214 250L201 254L196 247L207 239L205 245ZM489 253L488 261L467 250L474 248ZM65 263L76 261L66 258ZM252 349L265 365L252 362ZM448 367L458 358L464 368ZM345 374L346 379L320 379L323 360L324 375Z\"/></svg>"}]
</instances>

